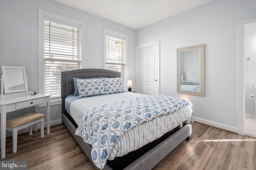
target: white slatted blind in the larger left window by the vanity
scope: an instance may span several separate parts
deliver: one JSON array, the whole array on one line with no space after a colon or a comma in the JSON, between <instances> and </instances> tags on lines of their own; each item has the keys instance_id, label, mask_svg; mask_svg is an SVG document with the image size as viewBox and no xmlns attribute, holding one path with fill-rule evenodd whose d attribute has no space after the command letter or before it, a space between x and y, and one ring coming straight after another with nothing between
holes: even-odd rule
<instances>
[{"instance_id":1,"label":"white slatted blind in the larger left window by the vanity","mask_svg":"<svg viewBox=\"0 0 256 170\"><path fill-rule=\"evenodd\" d=\"M44 93L60 97L62 71L81 68L81 30L44 20Z\"/></svg>"}]
</instances>

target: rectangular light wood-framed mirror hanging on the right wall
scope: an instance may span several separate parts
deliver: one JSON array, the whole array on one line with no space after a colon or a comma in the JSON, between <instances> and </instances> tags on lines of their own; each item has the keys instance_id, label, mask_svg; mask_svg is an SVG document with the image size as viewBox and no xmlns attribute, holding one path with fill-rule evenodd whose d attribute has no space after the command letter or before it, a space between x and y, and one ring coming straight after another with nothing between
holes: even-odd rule
<instances>
[{"instance_id":1,"label":"rectangular light wood-framed mirror hanging on the right wall","mask_svg":"<svg viewBox=\"0 0 256 170\"><path fill-rule=\"evenodd\" d=\"M177 49L177 93L204 96L204 44Z\"/></svg>"}]
</instances>

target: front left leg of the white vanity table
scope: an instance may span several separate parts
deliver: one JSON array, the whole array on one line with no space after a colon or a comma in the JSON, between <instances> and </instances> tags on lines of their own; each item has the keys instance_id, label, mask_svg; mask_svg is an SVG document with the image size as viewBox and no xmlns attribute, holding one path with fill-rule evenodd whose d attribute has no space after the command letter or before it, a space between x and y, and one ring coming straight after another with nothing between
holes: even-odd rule
<instances>
[{"instance_id":1,"label":"front left leg of the white vanity table","mask_svg":"<svg viewBox=\"0 0 256 170\"><path fill-rule=\"evenodd\" d=\"M1 159L5 158L6 147L6 105L1 106Z\"/></svg>"}]
</instances>

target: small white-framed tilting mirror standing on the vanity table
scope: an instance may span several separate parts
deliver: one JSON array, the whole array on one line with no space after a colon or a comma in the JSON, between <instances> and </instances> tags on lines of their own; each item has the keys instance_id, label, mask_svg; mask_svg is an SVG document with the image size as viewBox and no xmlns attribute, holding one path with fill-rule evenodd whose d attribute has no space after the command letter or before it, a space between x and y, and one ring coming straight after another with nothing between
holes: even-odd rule
<instances>
[{"instance_id":1,"label":"small white-framed tilting mirror standing on the vanity table","mask_svg":"<svg viewBox=\"0 0 256 170\"><path fill-rule=\"evenodd\" d=\"M2 73L1 94L28 91L25 67L2 66Z\"/></svg>"}]
</instances>

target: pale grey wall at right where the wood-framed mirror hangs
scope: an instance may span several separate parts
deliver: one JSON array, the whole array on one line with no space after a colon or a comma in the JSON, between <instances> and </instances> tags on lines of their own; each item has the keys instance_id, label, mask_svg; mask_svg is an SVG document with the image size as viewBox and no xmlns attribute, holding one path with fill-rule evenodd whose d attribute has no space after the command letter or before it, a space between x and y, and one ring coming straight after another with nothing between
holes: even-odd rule
<instances>
[{"instance_id":1,"label":"pale grey wall at right where the wood-framed mirror hangs","mask_svg":"<svg viewBox=\"0 0 256 170\"><path fill-rule=\"evenodd\" d=\"M186 97L195 120L237 131L238 21L256 17L256 1L214 0L137 30L136 45L160 41L160 93ZM176 49L205 44L205 96L176 92Z\"/></svg>"}]
</instances>

